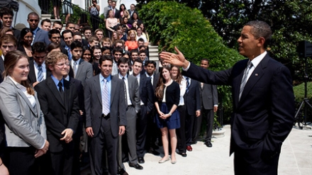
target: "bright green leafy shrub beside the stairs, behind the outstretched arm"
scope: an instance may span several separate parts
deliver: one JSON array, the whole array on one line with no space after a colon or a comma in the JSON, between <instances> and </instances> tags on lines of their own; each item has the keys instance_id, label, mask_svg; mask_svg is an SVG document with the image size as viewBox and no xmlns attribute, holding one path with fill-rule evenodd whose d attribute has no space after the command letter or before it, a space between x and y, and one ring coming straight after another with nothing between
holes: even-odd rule
<instances>
[{"instance_id":1,"label":"bright green leafy shrub beside the stairs, behind the outstretched arm","mask_svg":"<svg viewBox=\"0 0 312 175\"><path fill-rule=\"evenodd\" d=\"M151 1L139 13L147 24L151 43L157 44L160 51L173 52L177 46L195 64L202 58L210 60L210 69L214 71L228 69L243 59L237 51L223 45L222 38L198 9L174 1ZM226 122L232 111L230 86L218 86L218 93Z\"/></svg>"}]
</instances>

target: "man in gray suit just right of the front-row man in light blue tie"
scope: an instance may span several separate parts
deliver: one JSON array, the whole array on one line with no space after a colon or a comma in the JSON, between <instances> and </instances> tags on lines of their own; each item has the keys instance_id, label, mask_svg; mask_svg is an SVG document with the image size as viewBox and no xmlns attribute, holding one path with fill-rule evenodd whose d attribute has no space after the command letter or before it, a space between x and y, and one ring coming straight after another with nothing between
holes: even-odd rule
<instances>
[{"instance_id":1,"label":"man in gray suit just right of the front-row man in light blue tie","mask_svg":"<svg viewBox=\"0 0 312 175\"><path fill-rule=\"evenodd\" d=\"M138 80L133 77L133 75L128 75L129 70L129 62L126 57L121 57L118 59L118 70L119 73L118 78L122 79L126 85L126 117L127 117L127 126L126 126L126 137L123 144L128 145L126 149L129 151L129 166L134 167L135 169L143 169L140 164L138 164L138 156L136 154L136 119L137 114L140 111L140 92L139 92L139 84ZM120 149L119 149L119 166L124 169L121 160L121 142Z\"/></svg>"}]
</instances>

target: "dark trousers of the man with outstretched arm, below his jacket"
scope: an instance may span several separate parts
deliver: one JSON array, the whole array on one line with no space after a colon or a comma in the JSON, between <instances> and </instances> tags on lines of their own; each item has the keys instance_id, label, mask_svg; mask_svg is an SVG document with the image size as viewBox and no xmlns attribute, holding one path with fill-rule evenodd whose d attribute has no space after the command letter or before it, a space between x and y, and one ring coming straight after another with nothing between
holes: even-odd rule
<instances>
[{"instance_id":1,"label":"dark trousers of the man with outstretched arm, below his jacket","mask_svg":"<svg viewBox=\"0 0 312 175\"><path fill-rule=\"evenodd\" d=\"M276 154L272 159L264 162L261 158L253 164L244 159L244 152L234 152L234 172L237 175L277 175L277 166L279 163L279 154Z\"/></svg>"}]
</instances>

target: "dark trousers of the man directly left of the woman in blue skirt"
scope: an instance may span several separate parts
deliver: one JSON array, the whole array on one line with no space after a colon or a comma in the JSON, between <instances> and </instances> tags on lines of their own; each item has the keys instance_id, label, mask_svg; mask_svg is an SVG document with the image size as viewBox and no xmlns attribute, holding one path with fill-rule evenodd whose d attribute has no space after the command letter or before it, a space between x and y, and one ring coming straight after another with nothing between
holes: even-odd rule
<instances>
[{"instance_id":1,"label":"dark trousers of the man directly left of the woman in blue skirt","mask_svg":"<svg viewBox=\"0 0 312 175\"><path fill-rule=\"evenodd\" d=\"M137 155L138 157L144 157L146 134L147 134L147 121L148 121L147 107L141 106L140 114L137 119Z\"/></svg>"}]
</instances>

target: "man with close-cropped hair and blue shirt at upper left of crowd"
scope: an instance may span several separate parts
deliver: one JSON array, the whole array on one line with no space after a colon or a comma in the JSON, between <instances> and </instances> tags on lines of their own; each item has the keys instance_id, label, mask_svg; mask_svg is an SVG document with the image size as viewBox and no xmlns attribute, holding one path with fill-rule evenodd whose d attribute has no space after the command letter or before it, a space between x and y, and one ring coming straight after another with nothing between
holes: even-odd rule
<instances>
[{"instance_id":1,"label":"man with close-cropped hair and blue shirt at upper left of crowd","mask_svg":"<svg viewBox=\"0 0 312 175\"><path fill-rule=\"evenodd\" d=\"M29 24L31 32L33 33L33 43L40 41L45 43L45 45L49 45L50 40L48 37L48 32L38 27L39 25L38 14L35 12L30 12L28 14L27 22Z\"/></svg>"}]
</instances>

